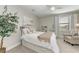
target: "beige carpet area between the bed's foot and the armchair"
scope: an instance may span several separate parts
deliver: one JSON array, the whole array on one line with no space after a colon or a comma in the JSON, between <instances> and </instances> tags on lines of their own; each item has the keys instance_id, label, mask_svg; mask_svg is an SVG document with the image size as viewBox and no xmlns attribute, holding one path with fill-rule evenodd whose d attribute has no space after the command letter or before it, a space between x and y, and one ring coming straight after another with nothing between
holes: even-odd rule
<instances>
[{"instance_id":1,"label":"beige carpet area between the bed's foot and the armchair","mask_svg":"<svg viewBox=\"0 0 79 59\"><path fill-rule=\"evenodd\" d=\"M63 41L63 39L58 39L58 45L61 53L79 53L79 46L72 46Z\"/></svg>"}]
</instances>

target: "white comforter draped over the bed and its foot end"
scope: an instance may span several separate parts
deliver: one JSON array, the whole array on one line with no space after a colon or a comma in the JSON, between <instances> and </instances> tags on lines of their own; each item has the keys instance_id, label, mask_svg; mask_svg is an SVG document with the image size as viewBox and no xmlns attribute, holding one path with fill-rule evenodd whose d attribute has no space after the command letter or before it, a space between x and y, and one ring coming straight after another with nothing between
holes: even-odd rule
<instances>
[{"instance_id":1,"label":"white comforter draped over the bed and its foot end","mask_svg":"<svg viewBox=\"0 0 79 59\"><path fill-rule=\"evenodd\" d=\"M59 48L56 42L56 35L52 33L50 43L46 43L46 42L39 41L39 39L37 38L40 34L43 34L43 33L44 32L35 32L31 34L25 34L22 36L22 39L29 43L36 44L44 48L52 49L53 52L59 52Z\"/></svg>"}]
</instances>

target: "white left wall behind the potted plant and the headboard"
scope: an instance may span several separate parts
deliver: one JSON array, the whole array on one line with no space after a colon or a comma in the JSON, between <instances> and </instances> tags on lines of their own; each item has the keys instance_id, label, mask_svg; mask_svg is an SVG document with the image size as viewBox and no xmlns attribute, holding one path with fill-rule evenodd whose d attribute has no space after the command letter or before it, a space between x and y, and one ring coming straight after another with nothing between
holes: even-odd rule
<instances>
[{"instance_id":1,"label":"white left wall behind the potted plant and the headboard","mask_svg":"<svg viewBox=\"0 0 79 59\"><path fill-rule=\"evenodd\" d=\"M0 14L3 11L4 6L0 6ZM20 6L8 6L8 11L11 12L17 12L17 16L19 16L19 23L18 23L18 29L16 30L16 33L13 33L10 37L4 38L4 46L7 47L7 50L13 48L14 46L20 44L20 26L22 25L23 19L26 20L25 23L28 23L27 20L33 20L34 27L37 28L35 25L37 23L37 17L33 16L32 14L28 13L27 11L20 8ZM25 17L25 18L24 18Z\"/></svg>"}]
</instances>

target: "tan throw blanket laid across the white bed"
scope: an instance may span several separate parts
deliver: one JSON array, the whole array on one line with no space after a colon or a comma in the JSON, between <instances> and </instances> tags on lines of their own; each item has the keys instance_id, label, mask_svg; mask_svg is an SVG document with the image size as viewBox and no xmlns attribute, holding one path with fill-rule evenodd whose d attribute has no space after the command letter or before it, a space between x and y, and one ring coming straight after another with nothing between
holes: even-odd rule
<instances>
[{"instance_id":1,"label":"tan throw blanket laid across the white bed","mask_svg":"<svg viewBox=\"0 0 79 59\"><path fill-rule=\"evenodd\" d=\"M51 35L52 35L52 32L45 32L45 33L39 35L38 39L40 41L50 42Z\"/></svg>"}]
</instances>

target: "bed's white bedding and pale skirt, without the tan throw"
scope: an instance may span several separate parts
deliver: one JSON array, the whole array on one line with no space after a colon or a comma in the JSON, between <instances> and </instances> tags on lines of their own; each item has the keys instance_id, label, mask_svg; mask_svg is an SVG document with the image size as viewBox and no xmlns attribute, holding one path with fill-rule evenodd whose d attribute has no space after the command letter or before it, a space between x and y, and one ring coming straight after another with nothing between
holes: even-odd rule
<instances>
[{"instance_id":1,"label":"bed's white bedding and pale skirt, without the tan throw","mask_svg":"<svg viewBox=\"0 0 79 59\"><path fill-rule=\"evenodd\" d=\"M24 29L24 28L22 28L22 29ZM27 31L27 30L25 30L25 31ZM25 33L25 31L24 31L24 33ZM39 53L45 53L45 52L46 53L50 53L50 52L59 53L59 47L56 42L56 35L52 32L51 37L50 37L50 42L46 42L44 40L39 39L39 36L40 35L42 36L44 33L45 32L35 31L35 32L29 33L29 34L27 34L27 33L22 34L21 43L23 46L28 47Z\"/></svg>"}]
</instances>

